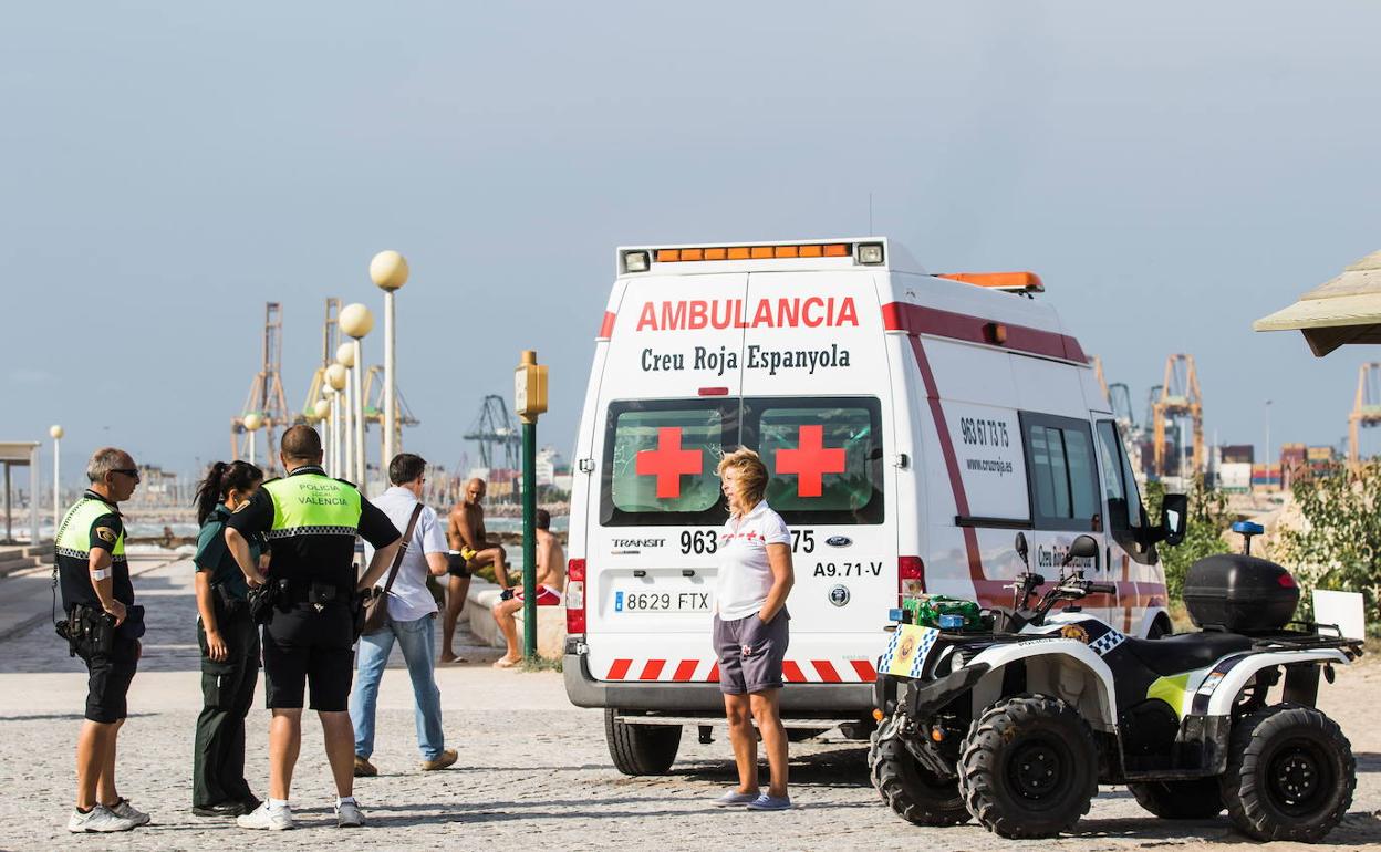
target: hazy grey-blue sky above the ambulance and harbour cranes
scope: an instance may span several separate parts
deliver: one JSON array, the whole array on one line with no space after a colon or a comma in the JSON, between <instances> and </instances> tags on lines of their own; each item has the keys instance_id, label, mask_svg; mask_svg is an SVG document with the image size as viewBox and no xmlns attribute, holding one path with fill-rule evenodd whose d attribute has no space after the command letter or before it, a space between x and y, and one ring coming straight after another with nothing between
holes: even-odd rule
<instances>
[{"instance_id":1,"label":"hazy grey-blue sky above the ambulance and harbour cranes","mask_svg":"<svg viewBox=\"0 0 1381 852\"><path fill-rule=\"evenodd\" d=\"M300 409L323 300L378 311L395 249L406 447L474 463L534 348L539 442L569 454L616 246L871 217L927 269L1039 272L1138 417L1189 352L1210 439L1259 453L1269 399L1273 450L1337 443L1381 351L1251 320L1381 249L1378 26L1363 1L12 4L0 439L64 424L73 476L105 443L224 457L264 302Z\"/></svg>"}]
</instances>

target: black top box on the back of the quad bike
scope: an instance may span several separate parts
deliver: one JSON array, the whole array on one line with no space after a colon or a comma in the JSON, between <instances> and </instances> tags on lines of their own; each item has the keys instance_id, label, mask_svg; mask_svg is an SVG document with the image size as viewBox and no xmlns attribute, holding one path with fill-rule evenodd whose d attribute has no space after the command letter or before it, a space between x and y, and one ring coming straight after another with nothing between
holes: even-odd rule
<instances>
[{"instance_id":1,"label":"black top box on the back of the quad bike","mask_svg":"<svg viewBox=\"0 0 1381 852\"><path fill-rule=\"evenodd\" d=\"M1290 572L1246 554L1218 554L1189 566L1185 608L1196 627L1240 634L1283 630L1300 603Z\"/></svg>"}]
</instances>

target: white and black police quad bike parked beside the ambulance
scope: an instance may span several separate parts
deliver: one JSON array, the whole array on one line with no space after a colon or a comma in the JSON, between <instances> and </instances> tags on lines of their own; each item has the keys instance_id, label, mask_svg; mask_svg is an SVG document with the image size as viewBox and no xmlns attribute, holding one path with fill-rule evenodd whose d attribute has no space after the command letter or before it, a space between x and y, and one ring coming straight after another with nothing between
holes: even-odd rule
<instances>
[{"instance_id":1,"label":"white and black police quad bike parked beside the ambulance","mask_svg":"<svg viewBox=\"0 0 1381 852\"><path fill-rule=\"evenodd\" d=\"M1235 529L1250 552L1259 527ZM1016 539L1026 561L1026 539ZM1333 664L1359 657L1360 643L1290 621L1294 580L1250 555L1190 569L1185 598L1203 632L1138 639L1077 605L1052 612L1114 591L1066 572L1073 559L1097 565L1098 551L1092 537L1076 539L1034 608L1045 581L1027 562L1012 612L985 610L968 630L892 610L899 623L878 660L869 750L882 800L916 824L974 817L1003 837L1033 838L1070 830L1099 783L1127 784L1164 819L1226 808L1257 840L1322 840L1352 802L1356 762L1338 725L1313 707L1319 675L1331 684ZM1217 601L1192 598L1196 581ZM1268 706L1282 678L1282 701Z\"/></svg>"}]
</instances>

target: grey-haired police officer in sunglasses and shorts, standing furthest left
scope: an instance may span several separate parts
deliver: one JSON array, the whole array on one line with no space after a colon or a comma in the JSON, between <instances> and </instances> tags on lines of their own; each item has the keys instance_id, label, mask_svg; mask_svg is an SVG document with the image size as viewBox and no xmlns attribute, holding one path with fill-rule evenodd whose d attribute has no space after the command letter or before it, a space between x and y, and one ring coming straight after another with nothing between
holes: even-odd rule
<instances>
[{"instance_id":1,"label":"grey-haired police officer in sunglasses and shorts, standing furthest left","mask_svg":"<svg viewBox=\"0 0 1381 852\"><path fill-rule=\"evenodd\" d=\"M68 830L128 831L149 822L115 787L115 754L127 715L126 695L139 661L144 608L124 558L117 504L139 483L128 453L97 450L87 463L91 487L58 525L57 580L65 620L58 632L87 667L86 722L77 739L77 801Z\"/></svg>"}]
</instances>

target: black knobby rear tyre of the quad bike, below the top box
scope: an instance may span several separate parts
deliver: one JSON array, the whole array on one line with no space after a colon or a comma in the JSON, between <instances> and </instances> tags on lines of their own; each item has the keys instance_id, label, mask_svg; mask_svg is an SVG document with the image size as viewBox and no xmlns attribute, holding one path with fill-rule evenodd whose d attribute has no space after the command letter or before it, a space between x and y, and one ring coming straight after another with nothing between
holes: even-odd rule
<instances>
[{"instance_id":1,"label":"black knobby rear tyre of the quad bike, below the top box","mask_svg":"<svg viewBox=\"0 0 1381 852\"><path fill-rule=\"evenodd\" d=\"M1233 728L1222 801L1243 834L1312 844L1348 812L1356 768L1337 722L1313 707L1275 704Z\"/></svg>"}]
</instances>

